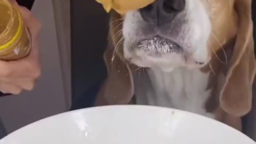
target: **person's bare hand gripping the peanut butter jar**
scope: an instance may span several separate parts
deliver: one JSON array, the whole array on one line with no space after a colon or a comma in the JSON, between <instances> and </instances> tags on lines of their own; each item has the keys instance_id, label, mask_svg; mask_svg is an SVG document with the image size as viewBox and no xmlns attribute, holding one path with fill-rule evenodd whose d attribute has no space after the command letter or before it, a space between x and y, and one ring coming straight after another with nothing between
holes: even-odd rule
<instances>
[{"instance_id":1,"label":"person's bare hand gripping the peanut butter jar","mask_svg":"<svg viewBox=\"0 0 256 144\"><path fill-rule=\"evenodd\" d=\"M36 79L41 75L38 54L38 34L41 25L29 10L22 6L18 7L31 34L30 54L17 61L0 60L0 91L15 95L23 90L33 90Z\"/></svg>"}]
</instances>

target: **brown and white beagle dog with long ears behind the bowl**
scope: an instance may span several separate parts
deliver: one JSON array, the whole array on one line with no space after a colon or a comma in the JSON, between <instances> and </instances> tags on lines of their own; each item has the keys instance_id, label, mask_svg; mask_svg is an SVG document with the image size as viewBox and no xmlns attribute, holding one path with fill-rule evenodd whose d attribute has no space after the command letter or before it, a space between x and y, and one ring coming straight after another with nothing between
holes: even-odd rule
<instances>
[{"instance_id":1,"label":"brown and white beagle dog with long ears behind the bowl","mask_svg":"<svg viewBox=\"0 0 256 144\"><path fill-rule=\"evenodd\" d=\"M97 105L190 111L242 130L256 63L251 0L156 0L111 12Z\"/></svg>"}]
</instances>

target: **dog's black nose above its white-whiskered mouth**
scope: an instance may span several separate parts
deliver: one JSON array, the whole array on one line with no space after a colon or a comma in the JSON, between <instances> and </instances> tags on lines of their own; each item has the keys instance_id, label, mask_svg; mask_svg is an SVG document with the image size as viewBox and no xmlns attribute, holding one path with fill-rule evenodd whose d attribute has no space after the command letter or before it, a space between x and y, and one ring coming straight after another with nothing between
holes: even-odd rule
<instances>
[{"instance_id":1,"label":"dog's black nose above its white-whiskered mouth","mask_svg":"<svg viewBox=\"0 0 256 144\"><path fill-rule=\"evenodd\" d=\"M156 0L139 11L146 22L162 26L172 22L185 9L185 5L186 0Z\"/></svg>"}]
</instances>

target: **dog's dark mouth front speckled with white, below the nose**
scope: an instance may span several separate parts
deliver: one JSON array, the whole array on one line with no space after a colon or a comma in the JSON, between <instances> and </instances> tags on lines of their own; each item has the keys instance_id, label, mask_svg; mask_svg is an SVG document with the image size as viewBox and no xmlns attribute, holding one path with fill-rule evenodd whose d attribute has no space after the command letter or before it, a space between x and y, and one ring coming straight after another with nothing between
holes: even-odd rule
<instances>
[{"instance_id":1,"label":"dog's dark mouth front speckled with white, below the nose","mask_svg":"<svg viewBox=\"0 0 256 144\"><path fill-rule=\"evenodd\" d=\"M168 53L180 53L183 51L182 47L161 36L153 36L151 38L142 39L138 43L138 48L145 52L155 52L159 54L168 54Z\"/></svg>"}]
</instances>

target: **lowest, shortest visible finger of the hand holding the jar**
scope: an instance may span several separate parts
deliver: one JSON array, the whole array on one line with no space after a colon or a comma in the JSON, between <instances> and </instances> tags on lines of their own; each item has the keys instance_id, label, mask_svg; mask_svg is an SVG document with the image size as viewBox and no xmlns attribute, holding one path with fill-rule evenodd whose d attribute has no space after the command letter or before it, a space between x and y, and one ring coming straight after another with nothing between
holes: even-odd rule
<instances>
[{"instance_id":1,"label":"lowest, shortest visible finger of the hand holding the jar","mask_svg":"<svg viewBox=\"0 0 256 144\"><path fill-rule=\"evenodd\" d=\"M22 89L16 85L0 82L0 91L3 93L11 93L17 95L21 93Z\"/></svg>"}]
</instances>

